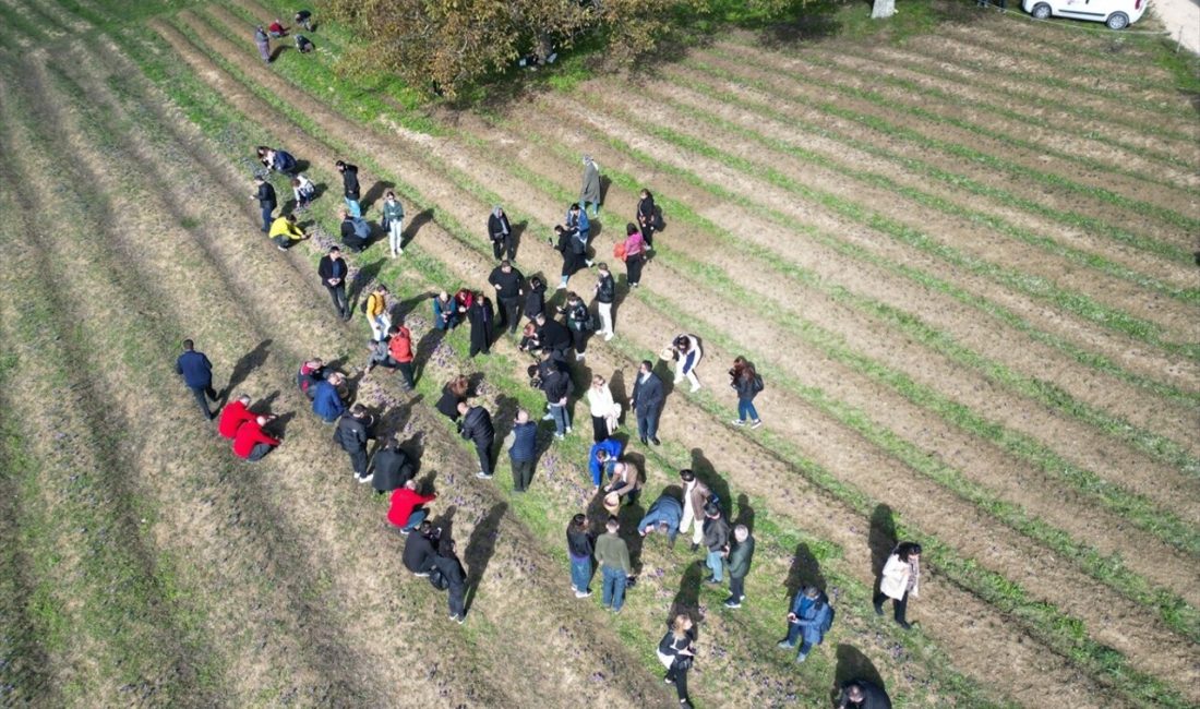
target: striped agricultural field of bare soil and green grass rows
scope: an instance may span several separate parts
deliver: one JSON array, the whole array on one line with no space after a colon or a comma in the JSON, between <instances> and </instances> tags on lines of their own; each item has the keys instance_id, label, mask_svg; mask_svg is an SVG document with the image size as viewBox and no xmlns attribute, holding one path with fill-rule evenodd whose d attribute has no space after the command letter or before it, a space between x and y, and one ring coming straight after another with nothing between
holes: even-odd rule
<instances>
[{"instance_id":1,"label":"striped agricultural field of bare soil and green grass rows","mask_svg":"<svg viewBox=\"0 0 1200 709\"><path fill-rule=\"evenodd\" d=\"M0 0L0 703L672 707L654 649L688 608L697 707L829 707L858 675L896 707L1200 705L1194 58L974 4L901 4L892 29L846 6L632 74L568 56L456 110L338 72L336 24L264 65L253 26L292 10ZM257 229L259 144L322 187L287 253ZM553 282L584 152L599 258L642 187L667 228L641 288L614 268L617 337L593 338L576 391L599 373L628 396L672 335L704 346L661 447L623 428L647 489L622 512L638 583L619 615L569 590L566 522L602 515L586 402L565 440L540 431L527 494L504 455L476 479L432 405L464 373L502 437L540 416L515 338L470 359L427 299L490 290L494 204L517 266ZM338 158L372 220L388 188L407 211L402 257L348 258L352 299L385 283L419 341L412 395L359 375L365 318L337 320L316 276ZM218 389L280 415L260 463L196 410L185 337ZM758 429L730 425L737 355L767 383ZM296 390L308 356L419 455L468 571L463 625ZM632 531L680 468L752 528L739 609L683 540ZM871 608L898 540L924 547L908 632ZM775 643L803 584L836 621L797 665Z\"/></svg>"}]
</instances>

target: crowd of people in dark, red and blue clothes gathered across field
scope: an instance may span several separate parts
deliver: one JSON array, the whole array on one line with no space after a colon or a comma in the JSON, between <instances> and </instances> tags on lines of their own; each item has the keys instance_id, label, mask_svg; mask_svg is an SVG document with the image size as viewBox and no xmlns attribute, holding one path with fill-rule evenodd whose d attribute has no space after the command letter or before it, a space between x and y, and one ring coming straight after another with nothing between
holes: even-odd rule
<instances>
[{"instance_id":1,"label":"crowd of people in dark, red and blue clothes gathered across field","mask_svg":"<svg viewBox=\"0 0 1200 709\"><path fill-rule=\"evenodd\" d=\"M296 16L296 23L311 23L311 14ZM305 25L310 31L311 26ZM262 28L259 28L262 30ZM283 36L286 28L277 22L264 34ZM264 55L265 59L265 55ZM307 209L314 197L312 181L299 172L299 162L286 150L258 148L258 158L265 170L277 172L290 180L296 210ZM344 206L340 209L342 245L350 251L370 248L374 228L364 215L359 169L346 161L337 161L335 169L342 178ZM278 200L266 174L256 178L253 198L262 209L262 230L278 246L287 250L307 239L298 226L295 210L275 215ZM588 215L590 208L590 216ZM629 398L614 396L604 377L590 378L590 386L576 397L575 380L580 366L587 357L590 336L599 332L605 341L616 334L613 308L618 305L618 288L607 263L592 258L592 221L601 210L600 169L590 157L583 157L583 182L580 199L568 206L564 222L554 227L557 239L551 246L562 252L563 268L559 290L568 290L571 277L583 269L595 269L595 284L588 292L588 300L595 302L592 310L581 290L568 290L560 306L547 302L547 288L540 275L526 277L516 266L517 234L502 205L496 205L486 218L486 239L492 246L497 265L487 277L493 289L493 300L482 290L461 288L451 295L440 292L432 298L433 328L450 331L466 323L469 326L469 355L487 355L494 340L508 331L516 336L520 331L520 350L533 357L528 367L529 383L545 395L545 421L553 422L553 437L562 440L574 432L571 404L575 398L587 402L592 419L592 438L587 459L593 493L606 513L602 523L594 527L587 515L575 515L566 528L566 551L570 559L571 589L576 597L592 595L589 588L593 572L598 569L601 581L601 605L612 613L620 613L626 590L636 583L635 569L630 559L628 539L622 535L620 512L623 507L637 505L646 485L646 471L641 469L640 456L630 456L625 438L619 434L620 422L632 413L637 439L642 445L661 445L659 420L667 398L667 389L658 371L673 368L673 383L689 383L691 392L702 387L698 375L703 360L701 338L683 332L667 343L659 359L667 362L658 368L655 361L638 363ZM404 210L391 191L386 192L379 209L380 232L386 234L391 258L403 254ZM626 286L636 288L641 282L642 268L653 252L653 238L664 228L662 212L654 203L649 190L642 190L634 210L634 221L625 228L625 236L613 247L613 257L626 265ZM332 301L334 310L343 320L352 317L353 306L347 295L349 266L342 258L341 248L331 246L320 258L318 278ZM403 314L389 307L389 292L374 284L367 293L362 314L371 331L367 341L368 359L362 375L377 367L402 374L403 389L416 386L415 353L413 335L404 325ZM522 319L524 324L522 325ZM184 342L184 353L176 362L176 371L193 392L204 415L212 420L217 414L209 402L218 402L221 396L212 389L211 363L194 349L192 341ZM754 404L763 390L762 375L754 363L738 356L728 371L728 383L734 390L738 417L734 426L757 428L762 420ZM298 389L311 402L313 414L324 423L334 426L332 439L349 457L350 470L359 482L372 483L377 494L390 494L388 523L406 537L403 564L412 573L426 577L439 590L449 595L449 617L463 623L466 607L467 575L457 557L452 539L430 522L430 505L437 493L419 489L414 477L415 462L406 453L391 432L377 432L378 416L362 403L354 402L353 387L343 372L328 366L320 359L301 363L296 373ZM450 419L457 433L474 449L479 461L476 476L491 480L497 465L497 426L492 413L473 396L470 380L456 375L442 387L436 410ZM282 435L266 432L275 420L270 413L252 411L252 399L240 395L221 408L218 433L233 440L233 451L246 461L259 461L282 444ZM538 459L536 415L520 409L511 421L504 422L510 429L506 441L512 476L512 491L522 494L529 489ZM383 434L373 455L371 441ZM413 534L415 531L415 534ZM728 597L724 606L740 608L745 601L745 579L750 573L755 539L748 524L731 522L724 500L691 469L678 474L678 485L664 488L650 504L631 534L648 537L661 533L667 539L667 548L674 549L679 534L690 535L690 551L701 552L698 560L708 569L704 583L721 587L728 583ZM703 548L702 548L703 547ZM910 597L917 597L919 582L920 547L905 542L899 545L887 560L880 576L878 593L874 597L875 611L883 613L883 602L892 599L895 621L904 629L911 627L906 619ZM696 656L696 632L694 624L700 620L691 609L677 609L668 621L668 630L656 648L659 660L666 667L665 681L674 685L679 703L690 707L688 696L688 672ZM828 596L817 585L804 585L796 594L786 617L786 637L781 648L794 649L799 644L796 660L805 661L834 621L834 609ZM847 683L840 695L840 707L887 707L887 695L877 685L866 680Z\"/></svg>"}]
</instances>

